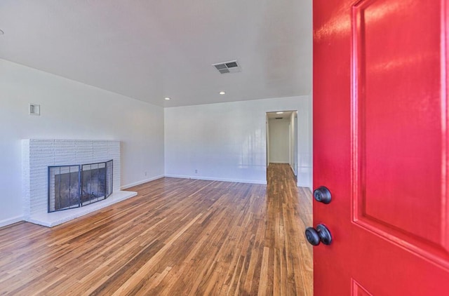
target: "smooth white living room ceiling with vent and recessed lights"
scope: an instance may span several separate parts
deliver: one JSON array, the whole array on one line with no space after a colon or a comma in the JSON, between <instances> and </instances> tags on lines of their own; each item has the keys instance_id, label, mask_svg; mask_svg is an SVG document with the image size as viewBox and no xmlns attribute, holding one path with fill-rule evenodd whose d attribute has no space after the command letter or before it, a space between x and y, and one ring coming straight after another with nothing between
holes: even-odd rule
<instances>
[{"instance_id":1,"label":"smooth white living room ceiling with vent and recessed lights","mask_svg":"<svg viewBox=\"0 0 449 296\"><path fill-rule=\"evenodd\" d=\"M311 10L311 0L1 0L0 58L163 107L309 95ZM229 60L241 72L212 66Z\"/></svg>"}]
</instances>

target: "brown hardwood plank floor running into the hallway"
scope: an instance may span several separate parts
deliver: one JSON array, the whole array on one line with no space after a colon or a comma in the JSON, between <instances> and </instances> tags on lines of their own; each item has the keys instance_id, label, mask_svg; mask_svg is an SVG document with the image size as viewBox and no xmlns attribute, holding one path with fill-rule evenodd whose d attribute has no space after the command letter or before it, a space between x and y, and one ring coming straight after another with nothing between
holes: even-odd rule
<instances>
[{"instance_id":1,"label":"brown hardwood plank floor running into the hallway","mask_svg":"<svg viewBox=\"0 0 449 296\"><path fill-rule=\"evenodd\" d=\"M311 193L163 178L58 227L0 229L0 295L312 295Z\"/></svg>"}]
</instances>

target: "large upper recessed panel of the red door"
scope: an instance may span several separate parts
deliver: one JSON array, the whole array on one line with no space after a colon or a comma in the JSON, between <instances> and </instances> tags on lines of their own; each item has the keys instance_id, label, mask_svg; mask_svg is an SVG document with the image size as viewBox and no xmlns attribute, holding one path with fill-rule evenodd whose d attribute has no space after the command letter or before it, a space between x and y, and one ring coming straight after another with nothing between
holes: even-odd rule
<instances>
[{"instance_id":1,"label":"large upper recessed panel of the red door","mask_svg":"<svg viewBox=\"0 0 449 296\"><path fill-rule=\"evenodd\" d=\"M410 11L438 16L440 7L368 0L353 8L355 219L391 239L401 232L406 241L445 248L440 18Z\"/></svg>"}]
</instances>

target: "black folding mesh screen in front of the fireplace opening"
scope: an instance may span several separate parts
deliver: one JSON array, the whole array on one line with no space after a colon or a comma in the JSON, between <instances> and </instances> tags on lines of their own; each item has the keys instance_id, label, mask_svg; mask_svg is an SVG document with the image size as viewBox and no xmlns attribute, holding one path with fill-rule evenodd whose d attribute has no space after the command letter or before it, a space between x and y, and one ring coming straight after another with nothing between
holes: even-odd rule
<instances>
[{"instance_id":1,"label":"black folding mesh screen in front of the fireplace opening","mask_svg":"<svg viewBox=\"0 0 449 296\"><path fill-rule=\"evenodd\" d=\"M113 161L48 167L48 213L79 208L112 194Z\"/></svg>"}]
</instances>

